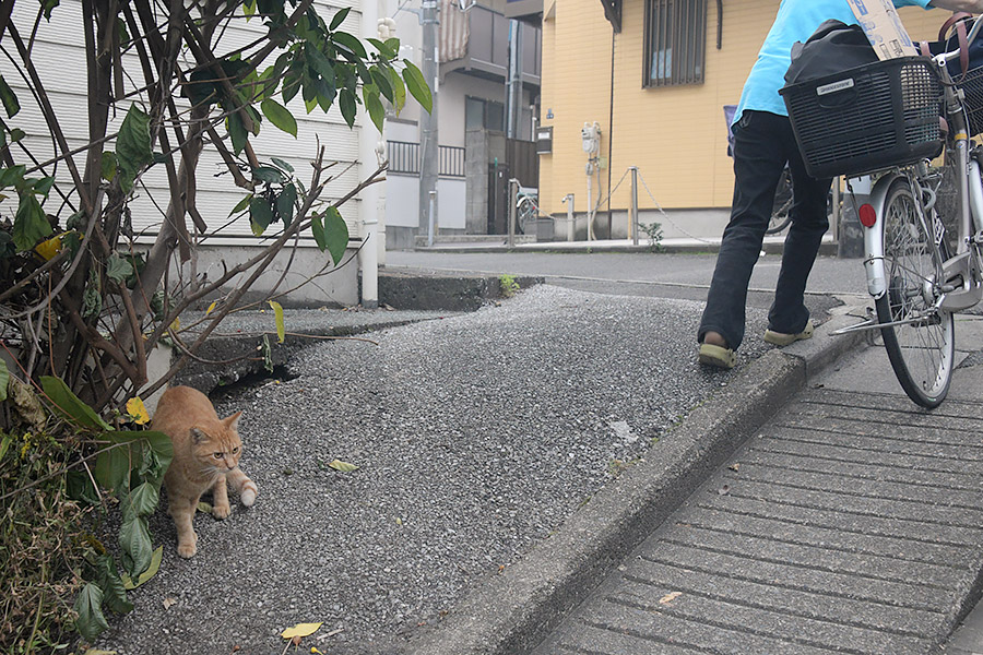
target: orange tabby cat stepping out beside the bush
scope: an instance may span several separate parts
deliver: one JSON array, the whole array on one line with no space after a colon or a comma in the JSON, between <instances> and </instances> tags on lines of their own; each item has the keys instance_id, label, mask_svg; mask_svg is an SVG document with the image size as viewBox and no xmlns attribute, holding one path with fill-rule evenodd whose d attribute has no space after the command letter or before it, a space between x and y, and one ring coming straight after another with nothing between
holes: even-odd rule
<instances>
[{"instance_id":1,"label":"orange tabby cat stepping out beside the bush","mask_svg":"<svg viewBox=\"0 0 983 655\"><path fill-rule=\"evenodd\" d=\"M201 495L212 490L212 516L225 519L228 504L226 480L247 508L256 502L256 483L239 469L242 442L236 428L241 412L220 419L206 395L190 386L164 392L154 412L152 428L170 437L174 460L164 476L167 503L178 534L178 555L189 558L198 551L198 535L191 520Z\"/></svg>"}]
</instances>

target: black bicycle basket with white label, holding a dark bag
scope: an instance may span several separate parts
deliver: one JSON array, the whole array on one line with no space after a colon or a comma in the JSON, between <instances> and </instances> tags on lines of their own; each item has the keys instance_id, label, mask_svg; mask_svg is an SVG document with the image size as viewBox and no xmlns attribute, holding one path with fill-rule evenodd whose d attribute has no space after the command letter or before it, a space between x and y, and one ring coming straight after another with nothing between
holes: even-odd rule
<instances>
[{"instance_id":1,"label":"black bicycle basket with white label, holding a dark bag","mask_svg":"<svg viewBox=\"0 0 983 655\"><path fill-rule=\"evenodd\" d=\"M983 97L983 71L980 85ZM927 57L875 61L780 93L815 178L857 176L941 152L941 93Z\"/></svg>"}]
</instances>

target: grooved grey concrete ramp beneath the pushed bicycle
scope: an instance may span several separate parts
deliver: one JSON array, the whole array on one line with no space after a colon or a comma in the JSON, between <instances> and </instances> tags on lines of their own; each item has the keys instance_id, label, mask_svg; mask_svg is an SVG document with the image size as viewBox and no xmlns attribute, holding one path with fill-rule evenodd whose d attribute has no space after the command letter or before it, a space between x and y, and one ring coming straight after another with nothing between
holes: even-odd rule
<instances>
[{"instance_id":1,"label":"grooved grey concrete ramp beneath the pushed bicycle","mask_svg":"<svg viewBox=\"0 0 983 655\"><path fill-rule=\"evenodd\" d=\"M815 379L535 654L938 652L983 570L978 361L932 413L880 347Z\"/></svg>"}]
</instances>

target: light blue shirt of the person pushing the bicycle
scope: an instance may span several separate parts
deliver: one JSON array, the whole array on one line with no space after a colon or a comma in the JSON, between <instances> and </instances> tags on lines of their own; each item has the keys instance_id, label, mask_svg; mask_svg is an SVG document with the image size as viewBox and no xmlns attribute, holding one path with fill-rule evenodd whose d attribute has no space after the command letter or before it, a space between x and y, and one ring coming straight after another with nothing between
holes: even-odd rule
<instances>
[{"instance_id":1,"label":"light blue shirt of the person pushing the bicycle","mask_svg":"<svg viewBox=\"0 0 983 655\"><path fill-rule=\"evenodd\" d=\"M893 0L895 7L932 9L928 2L929 0ZM829 19L848 25L856 24L856 17L846 0L782 0L774 24L758 52L758 60L744 84L733 122L737 122L745 109L789 115L779 90L785 85L785 71L792 63L792 45L795 41L805 43Z\"/></svg>"}]
</instances>

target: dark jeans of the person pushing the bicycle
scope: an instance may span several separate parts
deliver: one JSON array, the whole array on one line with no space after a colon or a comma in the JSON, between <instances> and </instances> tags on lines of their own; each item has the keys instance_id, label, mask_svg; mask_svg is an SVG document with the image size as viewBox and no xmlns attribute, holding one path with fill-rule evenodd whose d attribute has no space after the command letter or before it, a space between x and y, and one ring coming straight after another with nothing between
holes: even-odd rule
<instances>
[{"instance_id":1,"label":"dark jeans of the person pushing the bicycle","mask_svg":"<svg viewBox=\"0 0 983 655\"><path fill-rule=\"evenodd\" d=\"M802 332L809 319L803 297L822 235L829 229L826 196L832 180L817 180L806 172L785 116L745 111L734 127L734 139L731 222L720 245L697 336L702 342L707 332L718 332L737 349L744 341L747 285L761 252L782 169L787 163L794 202L774 303L768 312L768 326L775 332Z\"/></svg>"}]
</instances>

